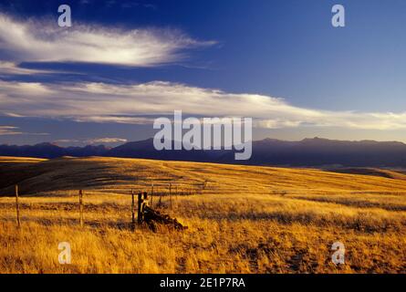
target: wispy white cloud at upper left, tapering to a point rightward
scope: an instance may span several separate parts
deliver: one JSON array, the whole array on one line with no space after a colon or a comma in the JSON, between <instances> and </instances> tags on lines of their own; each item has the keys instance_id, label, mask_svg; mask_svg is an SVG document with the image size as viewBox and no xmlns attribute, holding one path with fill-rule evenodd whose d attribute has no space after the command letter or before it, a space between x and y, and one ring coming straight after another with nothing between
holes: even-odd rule
<instances>
[{"instance_id":1,"label":"wispy white cloud at upper left, tapering to a point rightward","mask_svg":"<svg viewBox=\"0 0 406 292\"><path fill-rule=\"evenodd\" d=\"M206 47L173 29L123 29L75 23L59 27L55 20L17 20L0 14L0 49L13 62L91 62L135 67L179 61L187 48Z\"/></svg>"}]
</instances>

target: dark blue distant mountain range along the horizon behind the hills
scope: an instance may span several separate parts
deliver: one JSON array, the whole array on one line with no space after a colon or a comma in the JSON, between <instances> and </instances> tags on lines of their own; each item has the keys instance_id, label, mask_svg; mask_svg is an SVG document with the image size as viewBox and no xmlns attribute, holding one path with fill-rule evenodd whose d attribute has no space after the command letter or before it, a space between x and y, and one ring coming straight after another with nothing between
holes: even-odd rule
<instances>
[{"instance_id":1,"label":"dark blue distant mountain range along the horizon behind the hills","mask_svg":"<svg viewBox=\"0 0 406 292\"><path fill-rule=\"evenodd\" d=\"M234 161L234 151L156 151L153 140L128 142L115 148L104 145L59 147L52 143L0 145L0 156L57 158L106 156L188 162L220 162L280 166L406 167L406 144L397 141L336 141L304 139L253 141L248 161Z\"/></svg>"}]
</instances>

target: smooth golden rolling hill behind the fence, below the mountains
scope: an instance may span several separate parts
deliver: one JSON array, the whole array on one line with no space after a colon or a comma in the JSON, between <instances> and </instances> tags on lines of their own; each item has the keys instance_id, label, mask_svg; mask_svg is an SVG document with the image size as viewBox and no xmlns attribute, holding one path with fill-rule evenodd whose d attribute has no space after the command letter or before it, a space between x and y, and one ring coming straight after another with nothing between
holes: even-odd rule
<instances>
[{"instance_id":1,"label":"smooth golden rolling hill behind the fence, below the mountains","mask_svg":"<svg viewBox=\"0 0 406 292\"><path fill-rule=\"evenodd\" d=\"M406 191L406 175L379 169L329 172L208 162L167 162L105 157L52 160L0 158L0 195L92 189L129 192L143 185L182 184L195 193ZM205 187L203 187L203 185ZM62 192L63 193L63 192Z\"/></svg>"}]
</instances>

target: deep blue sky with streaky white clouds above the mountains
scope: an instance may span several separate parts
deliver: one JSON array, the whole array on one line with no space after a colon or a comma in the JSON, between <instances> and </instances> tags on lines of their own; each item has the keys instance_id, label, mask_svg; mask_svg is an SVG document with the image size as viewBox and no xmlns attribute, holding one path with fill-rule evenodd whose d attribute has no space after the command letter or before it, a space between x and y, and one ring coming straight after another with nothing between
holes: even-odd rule
<instances>
[{"instance_id":1,"label":"deep blue sky with streaky white clouds above the mountains","mask_svg":"<svg viewBox=\"0 0 406 292\"><path fill-rule=\"evenodd\" d=\"M72 27L57 26L57 6ZM346 27L331 26L331 7ZM0 143L136 141L151 120L255 139L406 141L404 1L0 1ZM116 140L115 140L116 139Z\"/></svg>"}]
</instances>

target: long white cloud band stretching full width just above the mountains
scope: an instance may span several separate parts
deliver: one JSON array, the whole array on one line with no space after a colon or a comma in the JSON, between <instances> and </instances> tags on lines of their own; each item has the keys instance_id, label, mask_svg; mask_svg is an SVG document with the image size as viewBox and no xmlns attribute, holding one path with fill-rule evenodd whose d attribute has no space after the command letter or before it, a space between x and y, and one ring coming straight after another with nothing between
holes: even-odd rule
<instances>
[{"instance_id":1,"label":"long white cloud band stretching full width just above the mountains","mask_svg":"<svg viewBox=\"0 0 406 292\"><path fill-rule=\"evenodd\" d=\"M182 110L193 116L251 117L256 127L273 129L307 126L406 129L406 112L305 109L265 95L160 81L133 85L0 81L0 109L2 114L15 116L128 124L149 123L154 116Z\"/></svg>"}]
</instances>

